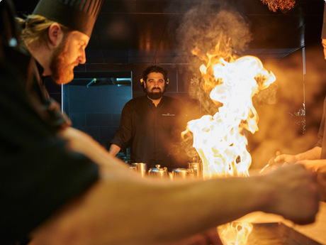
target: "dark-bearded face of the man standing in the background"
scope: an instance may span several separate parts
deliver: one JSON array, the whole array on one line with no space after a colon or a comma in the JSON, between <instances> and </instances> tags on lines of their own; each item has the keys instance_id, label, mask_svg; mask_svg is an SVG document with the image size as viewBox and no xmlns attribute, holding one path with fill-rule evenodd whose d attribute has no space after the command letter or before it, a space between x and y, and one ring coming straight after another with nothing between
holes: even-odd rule
<instances>
[{"instance_id":1,"label":"dark-bearded face of the man standing in the background","mask_svg":"<svg viewBox=\"0 0 326 245\"><path fill-rule=\"evenodd\" d=\"M159 99L163 96L165 90L164 75L159 72L151 72L147 75L144 83L146 94L150 99Z\"/></svg>"}]
</instances>

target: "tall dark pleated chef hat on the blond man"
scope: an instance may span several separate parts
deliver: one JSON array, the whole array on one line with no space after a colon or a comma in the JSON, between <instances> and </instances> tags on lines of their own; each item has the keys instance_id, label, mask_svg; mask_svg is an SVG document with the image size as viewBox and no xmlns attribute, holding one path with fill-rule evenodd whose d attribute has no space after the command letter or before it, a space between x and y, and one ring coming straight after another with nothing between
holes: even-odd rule
<instances>
[{"instance_id":1,"label":"tall dark pleated chef hat on the blond man","mask_svg":"<svg viewBox=\"0 0 326 245\"><path fill-rule=\"evenodd\" d=\"M91 37L103 0L40 0L33 14Z\"/></svg>"}]
</instances>

